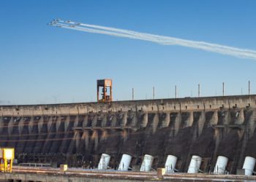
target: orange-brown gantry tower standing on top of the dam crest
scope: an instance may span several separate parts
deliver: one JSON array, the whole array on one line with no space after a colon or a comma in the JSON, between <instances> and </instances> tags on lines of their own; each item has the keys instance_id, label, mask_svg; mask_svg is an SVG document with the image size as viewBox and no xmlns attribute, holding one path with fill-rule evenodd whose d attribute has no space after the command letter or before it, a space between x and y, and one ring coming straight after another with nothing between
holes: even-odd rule
<instances>
[{"instance_id":1,"label":"orange-brown gantry tower standing on top of the dam crest","mask_svg":"<svg viewBox=\"0 0 256 182\"><path fill-rule=\"evenodd\" d=\"M101 97L100 97L100 95ZM97 102L109 103L112 102L112 79L97 80Z\"/></svg>"}]
</instances>

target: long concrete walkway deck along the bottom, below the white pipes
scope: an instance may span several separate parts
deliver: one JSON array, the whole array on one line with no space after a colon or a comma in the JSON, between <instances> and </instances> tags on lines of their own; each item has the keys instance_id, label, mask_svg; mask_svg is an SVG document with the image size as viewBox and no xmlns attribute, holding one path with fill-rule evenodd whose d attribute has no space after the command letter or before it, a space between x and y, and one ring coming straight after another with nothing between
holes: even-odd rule
<instances>
[{"instance_id":1,"label":"long concrete walkway deck along the bottom, below the white pipes","mask_svg":"<svg viewBox=\"0 0 256 182\"><path fill-rule=\"evenodd\" d=\"M121 172L78 168L70 168L63 173L59 168L14 167L12 173L0 173L0 181L256 181L256 176L209 175L203 173L169 173L158 176L157 172Z\"/></svg>"}]
</instances>

